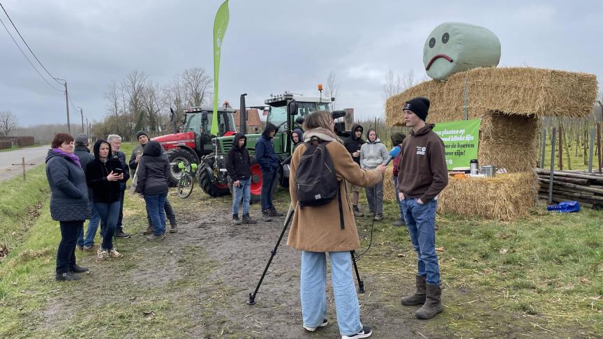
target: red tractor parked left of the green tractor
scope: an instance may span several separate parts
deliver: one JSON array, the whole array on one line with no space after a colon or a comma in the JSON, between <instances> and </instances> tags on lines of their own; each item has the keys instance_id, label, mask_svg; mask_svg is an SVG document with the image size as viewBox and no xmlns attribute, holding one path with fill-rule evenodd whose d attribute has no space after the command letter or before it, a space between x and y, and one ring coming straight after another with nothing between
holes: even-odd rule
<instances>
[{"instance_id":1,"label":"red tractor parked left of the green tractor","mask_svg":"<svg viewBox=\"0 0 603 339\"><path fill-rule=\"evenodd\" d=\"M170 184L176 186L182 175L178 163L184 165L191 163L200 164L202 157L215 151L211 140L216 137L234 135L234 109L225 103L225 107L218 107L218 135L212 135L211 119L214 114L213 107L189 107L184 110L184 123L179 128L179 133L154 137L165 149L170 160ZM175 129L175 128L174 128ZM201 188L211 196L218 197L230 194L228 184L212 180L207 171L199 171Z\"/></svg>"}]
</instances>

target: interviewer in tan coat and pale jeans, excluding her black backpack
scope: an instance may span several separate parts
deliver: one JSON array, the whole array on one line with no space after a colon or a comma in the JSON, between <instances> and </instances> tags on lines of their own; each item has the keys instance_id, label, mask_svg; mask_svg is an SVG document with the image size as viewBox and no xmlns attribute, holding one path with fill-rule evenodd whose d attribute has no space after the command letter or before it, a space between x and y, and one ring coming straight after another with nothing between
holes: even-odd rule
<instances>
[{"instance_id":1,"label":"interviewer in tan coat and pale jeans, excluding her black backpack","mask_svg":"<svg viewBox=\"0 0 603 339\"><path fill-rule=\"evenodd\" d=\"M336 178L343 181L338 186L338 194L344 202L343 211L340 211L338 199L320 206L299 208L295 177L301 156L307 149L306 144L300 144L291 160L289 191L295 214L292 217L287 244L302 251L300 294L304 329L315 331L318 327L327 325L325 287L326 253L329 253L341 338L367 338L371 336L372 331L360 322L358 297L352 280L350 251L358 248L360 241L345 181L357 186L374 186L382 181L386 167L379 165L373 170L360 169L345 146L339 142L333 128L334 120L329 112L313 112L304 121L304 140L308 142L312 137L318 137L323 142L328 142L325 149L332 158Z\"/></svg>"}]
</instances>

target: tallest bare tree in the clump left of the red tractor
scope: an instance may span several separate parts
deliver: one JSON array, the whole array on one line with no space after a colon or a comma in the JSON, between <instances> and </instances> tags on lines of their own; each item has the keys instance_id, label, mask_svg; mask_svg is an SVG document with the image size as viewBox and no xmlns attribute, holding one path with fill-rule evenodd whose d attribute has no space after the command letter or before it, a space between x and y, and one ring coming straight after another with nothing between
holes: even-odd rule
<instances>
[{"instance_id":1,"label":"tallest bare tree in the clump left of the red tractor","mask_svg":"<svg viewBox=\"0 0 603 339\"><path fill-rule=\"evenodd\" d=\"M130 121L133 122L134 130L142 130L147 127L147 119L143 110L144 88L149 76L141 71L134 70L121 83L121 88L126 94L129 108Z\"/></svg>"}]
</instances>

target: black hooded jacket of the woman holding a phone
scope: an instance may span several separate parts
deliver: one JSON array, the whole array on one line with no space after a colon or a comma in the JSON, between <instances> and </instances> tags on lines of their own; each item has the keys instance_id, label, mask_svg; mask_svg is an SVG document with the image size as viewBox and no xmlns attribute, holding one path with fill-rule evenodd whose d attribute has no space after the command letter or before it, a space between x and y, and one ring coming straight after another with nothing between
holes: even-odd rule
<instances>
[{"instance_id":1,"label":"black hooded jacket of the woman holding a phone","mask_svg":"<svg viewBox=\"0 0 603 339\"><path fill-rule=\"evenodd\" d=\"M107 176L118 168L123 172L126 172L126 169L117 158L109 156L107 161L103 162L98 157L98 150L101 149L103 143L109 144L105 140L98 140L94 144L94 160L86 167L86 180L92 189L92 201L110 204L119 201L121 188L119 188L119 181L108 181ZM109 154L112 154L110 144Z\"/></svg>"}]
</instances>

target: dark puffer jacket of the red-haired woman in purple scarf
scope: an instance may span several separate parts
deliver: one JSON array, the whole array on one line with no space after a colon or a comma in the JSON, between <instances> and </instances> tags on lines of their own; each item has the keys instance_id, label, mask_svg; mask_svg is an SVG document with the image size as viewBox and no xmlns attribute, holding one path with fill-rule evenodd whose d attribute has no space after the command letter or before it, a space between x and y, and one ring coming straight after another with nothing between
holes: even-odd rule
<instances>
[{"instance_id":1,"label":"dark puffer jacket of the red-haired woman in purple scarf","mask_svg":"<svg viewBox=\"0 0 603 339\"><path fill-rule=\"evenodd\" d=\"M80 166L66 156L48 151L46 177L50 185L50 216L53 220L90 218L86 176Z\"/></svg>"}]
</instances>

